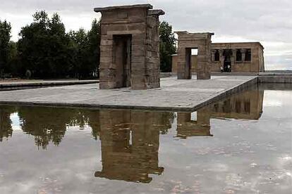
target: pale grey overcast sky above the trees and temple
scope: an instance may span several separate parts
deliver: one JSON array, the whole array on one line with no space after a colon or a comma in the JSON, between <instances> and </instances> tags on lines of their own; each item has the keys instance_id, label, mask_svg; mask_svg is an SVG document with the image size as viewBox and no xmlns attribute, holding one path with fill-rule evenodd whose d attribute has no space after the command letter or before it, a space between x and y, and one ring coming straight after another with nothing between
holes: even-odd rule
<instances>
[{"instance_id":1,"label":"pale grey overcast sky above the trees and temple","mask_svg":"<svg viewBox=\"0 0 292 194\"><path fill-rule=\"evenodd\" d=\"M266 69L292 70L291 0L0 0L0 20L13 27L13 40L20 28L32 22L35 11L59 13L66 30L90 29L100 15L95 7L152 4L166 15L174 30L214 32L213 42L260 41Z\"/></svg>"}]
</instances>

